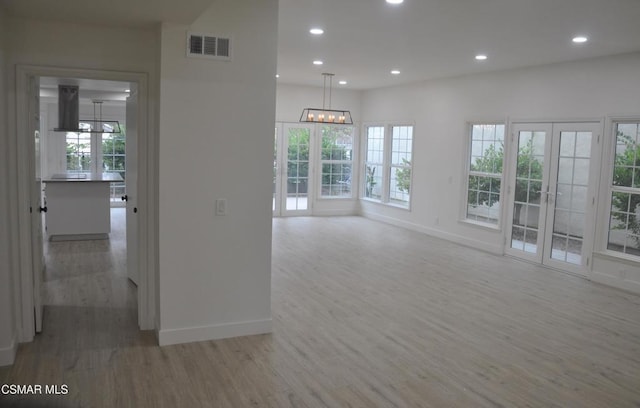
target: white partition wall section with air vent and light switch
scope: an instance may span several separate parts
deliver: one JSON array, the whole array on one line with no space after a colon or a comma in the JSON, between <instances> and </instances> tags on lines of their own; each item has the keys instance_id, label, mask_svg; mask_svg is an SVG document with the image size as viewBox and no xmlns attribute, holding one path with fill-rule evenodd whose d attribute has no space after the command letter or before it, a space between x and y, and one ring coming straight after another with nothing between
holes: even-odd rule
<instances>
[{"instance_id":1,"label":"white partition wall section with air vent and light switch","mask_svg":"<svg viewBox=\"0 0 640 408\"><path fill-rule=\"evenodd\" d=\"M160 344L271 330L277 17L276 0L222 0L162 27ZM233 60L186 58L188 30L230 35Z\"/></svg>"}]
</instances>

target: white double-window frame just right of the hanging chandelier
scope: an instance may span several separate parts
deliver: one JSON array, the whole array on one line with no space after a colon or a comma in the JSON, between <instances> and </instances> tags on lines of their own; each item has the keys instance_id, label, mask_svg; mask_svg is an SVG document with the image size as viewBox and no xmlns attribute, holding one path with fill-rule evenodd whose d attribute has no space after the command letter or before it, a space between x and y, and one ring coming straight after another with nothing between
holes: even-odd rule
<instances>
[{"instance_id":1,"label":"white double-window frame just right of the hanging chandelier","mask_svg":"<svg viewBox=\"0 0 640 408\"><path fill-rule=\"evenodd\" d=\"M398 164L392 163L392 152L393 152L393 129L396 127L410 127L411 128L411 165L410 166L401 166ZM382 163L378 162L368 162L368 149L369 149L369 129L370 128L382 128L383 129L383 151ZM411 171L411 180L410 186L411 190L413 190L413 161L414 161L414 151L415 151L415 130L416 126L413 123L367 123L363 126L362 133L362 180L360 182L360 199L372 203L383 204L407 211L411 211L411 203L413 194L409 193L409 200L406 205L396 203L391 201L390 197L390 189L391 189L391 171L393 169L407 167ZM367 167L369 165L375 165L382 168L382 189L380 193L380 199L371 198L366 196L366 188L367 188Z\"/></svg>"}]
</instances>

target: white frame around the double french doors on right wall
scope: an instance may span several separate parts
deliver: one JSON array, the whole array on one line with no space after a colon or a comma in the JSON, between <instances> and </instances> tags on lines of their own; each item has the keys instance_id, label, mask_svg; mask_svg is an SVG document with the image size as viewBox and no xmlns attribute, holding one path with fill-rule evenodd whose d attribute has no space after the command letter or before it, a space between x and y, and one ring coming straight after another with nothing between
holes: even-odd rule
<instances>
[{"instance_id":1,"label":"white frame around the double french doors on right wall","mask_svg":"<svg viewBox=\"0 0 640 408\"><path fill-rule=\"evenodd\" d=\"M544 257L546 256L548 251L545 250L544 246L540 247L540 245L544 243L544 240L546 239L546 235L549 235L547 234L547 227L549 222L545 223L545 225L538 227L539 230L541 228L544 228L544 234L538 234L538 247L540 252L539 255L522 256L523 254L519 253L519 251L518 251L518 254L514 254L514 252L510 250L511 229L513 224L513 194L515 194L515 192L512 191L513 189L512 184L515 181L515 177L516 177L516 167L517 167L517 159L518 159L516 129L521 125L539 125L541 129L543 127L546 127L549 130L548 136L551 138L550 139L551 142L548 143L545 141L545 157L548 157L548 159L552 161L554 159L554 157L552 157L553 156L552 146L554 143L553 138L555 133L554 126L562 126L565 124L588 124L594 127L594 139L592 140L592 154L590 157L591 162L589 166L587 209L585 211L585 217L587 219L590 218L594 221L586 225L586 228L584 231L583 253L584 253L584 256L586 257L585 262L583 263L583 265L576 266L576 267L573 267L573 265L571 266L567 265L569 267L560 267L558 265L559 262L550 262L550 263L543 262ZM602 155L604 154L604 150L605 150L603 148L604 125L605 125L605 118L593 118L593 117L575 118L575 119L512 119L508 121L508 128L509 128L508 142L509 143L508 143L507 151L509 153L509 160L507 165L507 175L505 177L505 181L508 183L507 184L508 205L505 206L506 208L504 208L506 219L505 219L505 228L504 228L504 236L503 236L503 242L504 242L503 253L505 255L513 256L518 259L523 259L526 261L532 261L536 264L540 264L548 268L561 270L563 272L575 274L581 277L586 277L588 279L591 278L592 264L593 264L592 258L593 258L595 243L596 243L595 234L598 227L597 225L598 223L595 221L595 218L596 218L596 214L598 214L598 205L599 205L598 194L599 194L599 188L601 183L600 170L602 166ZM543 185L542 185L543 190L545 190L548 187L548 184L550 184L550 177L553 176L554 174L557 176L557 169L555 172L553 172L554 174L549 175L548 172L550 170L553 170L553 167L551 167L551 163L545 164L544 174L543 174ZM555 183L557 183L557 181L554 182L554 184ZM589 205L589 201L591 201L591 205ZM545 219L548 220L548 216L545 217Z\"/></svg>"}]
</instances>

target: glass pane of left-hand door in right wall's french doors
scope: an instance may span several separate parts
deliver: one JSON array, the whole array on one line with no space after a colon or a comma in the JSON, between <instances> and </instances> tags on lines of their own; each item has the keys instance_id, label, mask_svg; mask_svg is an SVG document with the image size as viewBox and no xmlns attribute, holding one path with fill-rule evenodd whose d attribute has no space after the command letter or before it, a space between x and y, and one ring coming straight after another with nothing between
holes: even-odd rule
<instances>
[{"instance_id":1,"label":"glass pane of left-hand door in right wall's french doors","mask_svg":"<svg viewBox=\"0 0 640 408\"><path fill-rule=\"evenodd\" d=\"M538 251L545 135L534 131L518 134L511 248L534 254Z\"/></svg>"}]
</instances>

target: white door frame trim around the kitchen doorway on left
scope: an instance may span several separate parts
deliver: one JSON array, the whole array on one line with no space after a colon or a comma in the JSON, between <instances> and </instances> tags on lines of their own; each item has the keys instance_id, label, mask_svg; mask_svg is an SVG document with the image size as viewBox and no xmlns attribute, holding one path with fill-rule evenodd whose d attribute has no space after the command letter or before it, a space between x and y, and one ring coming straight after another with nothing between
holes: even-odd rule
<instances>
[{"instance_id":1,"label":"white door frame trim around the kitchen doorway on left","mask_svg":"<svg viewBox=\"0 0 640 408\"><path fill-rule=\"evenodd\" d=\"M29 342L35 335L33 270L31 257L33 247L30 230L30 183L29 163L33 154L33 142L28 135L29 79L31 77L71 77L95 80L135 82L139 89L138 105L138 206L142 211L138 217L138 263L140 284L138 285L138 325L142 330L154 328L156 298L152 290L156 286L156 241L155 214L157 214L157 143L150 137L152 124L149 111L148 75L140 72L102 71L81 68L58 68L47 66L17 65L16 67L16 132L13 142L16 159L12 168L16 170L17 197L12 200L17 212L12 230L17 232L18 245L12 246L12 256L17 259L14 272L15 313L20 342ZM141 186L146 186L141 187ZM12 217L13 218L13 217Z\"/></svg>"}]
</instances>

